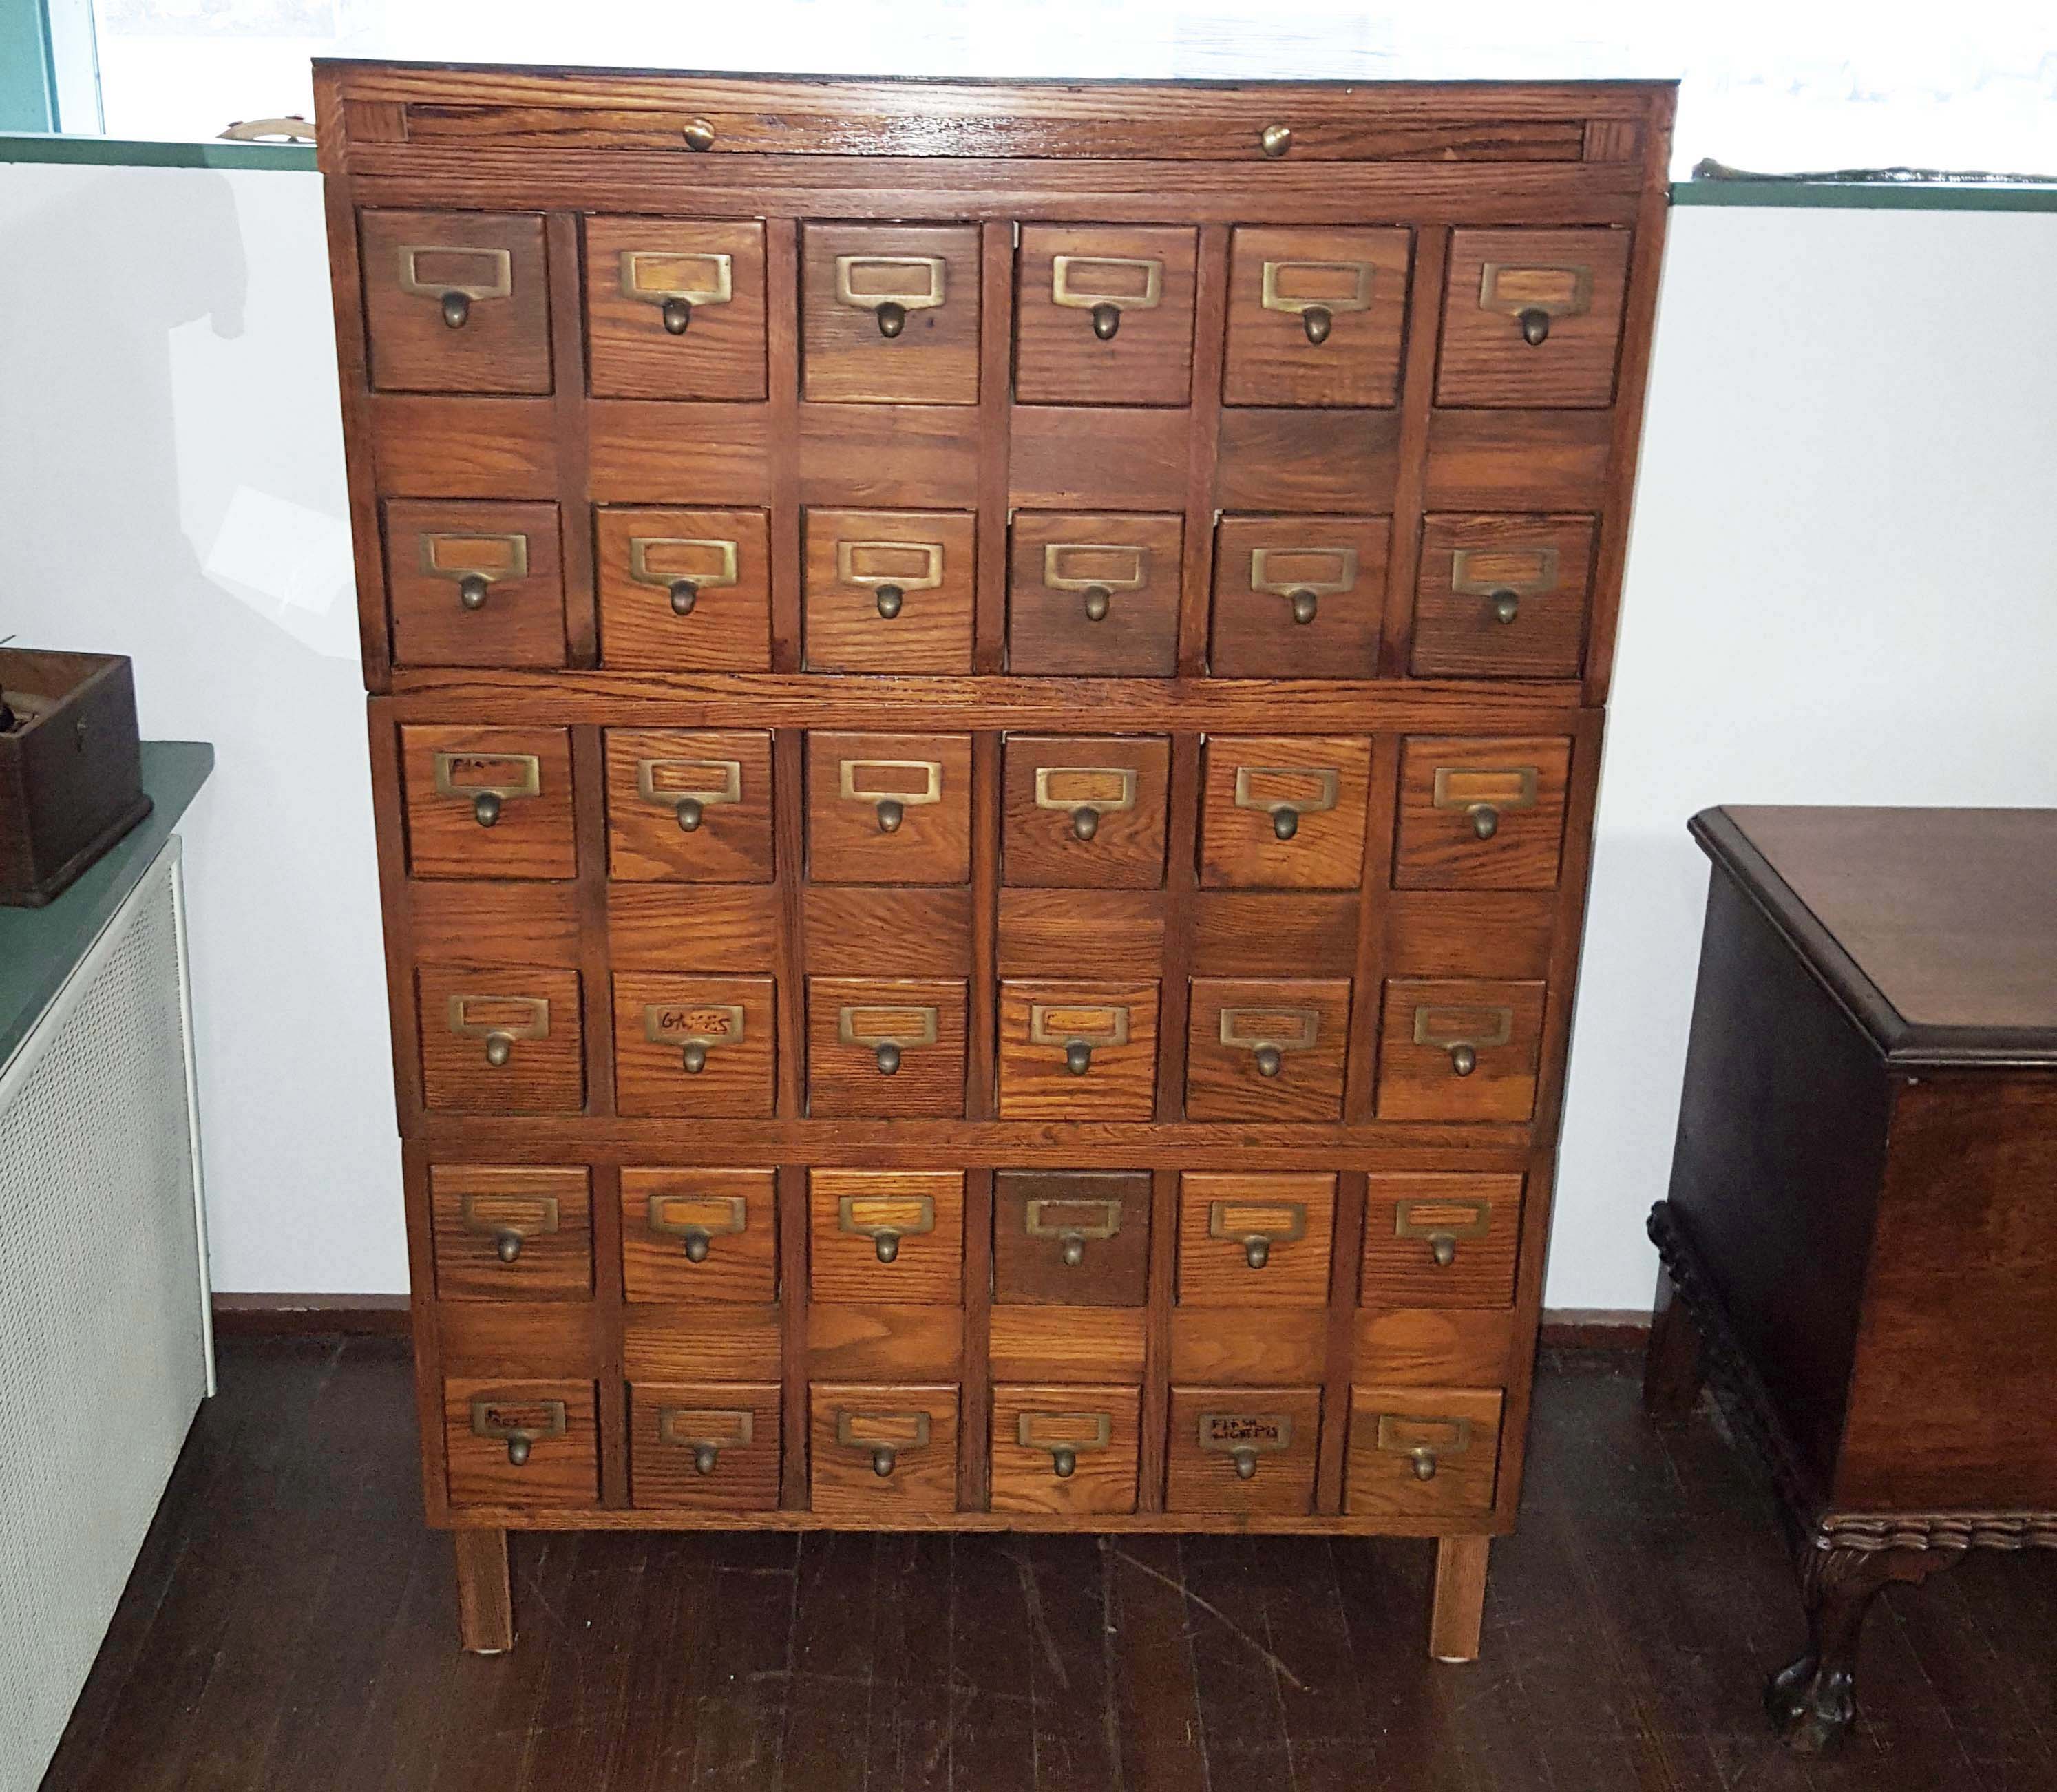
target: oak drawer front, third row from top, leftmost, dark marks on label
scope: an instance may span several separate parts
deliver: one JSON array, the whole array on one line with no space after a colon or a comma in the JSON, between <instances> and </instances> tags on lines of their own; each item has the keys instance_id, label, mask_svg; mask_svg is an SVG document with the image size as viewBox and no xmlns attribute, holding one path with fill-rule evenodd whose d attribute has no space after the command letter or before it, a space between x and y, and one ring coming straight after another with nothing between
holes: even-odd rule
<instances>
[{"instance_id":1,"label":"oak drawer front, third row from top, leftmost, dark marks on label","mask_svg":"<svg viewBox=\"0 0 2057 1792\"><path fill-rule=\"evenodd\" d=\"M568 728L399 730L413 876L564 879L572 844Z\"/></svg>"}]
</instances>

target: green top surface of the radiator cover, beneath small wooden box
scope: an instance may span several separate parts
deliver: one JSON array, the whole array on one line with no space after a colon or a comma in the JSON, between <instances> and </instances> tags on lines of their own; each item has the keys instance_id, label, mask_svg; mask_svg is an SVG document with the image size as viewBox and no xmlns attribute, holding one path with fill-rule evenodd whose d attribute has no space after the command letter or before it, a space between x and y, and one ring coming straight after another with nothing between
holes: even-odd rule
<instances>
[{"instance_id":1,"label":"green top surface of the radiator cover, beneath small wooden box","mask_svg":"<svg viewBox=\"0 0 2057 1792\"><path fill-rule=\"evenodd\" d=\"M142 883L212 769L214 747L206 741L144 741L142 788L150 813L56 901L39 909L0 909L0 1066Z\"/></svg>"}]
</instances>

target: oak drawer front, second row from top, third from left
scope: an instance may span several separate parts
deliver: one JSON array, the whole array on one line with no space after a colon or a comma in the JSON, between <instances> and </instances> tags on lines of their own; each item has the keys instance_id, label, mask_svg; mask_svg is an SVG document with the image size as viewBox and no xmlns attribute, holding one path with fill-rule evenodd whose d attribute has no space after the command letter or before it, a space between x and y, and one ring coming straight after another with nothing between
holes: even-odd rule
<instances>
[{"instance_id":1,"label":"oak drawer front, second row from top, third from left","mask_svg":"<svg viewBox=\"0 0 2057 1792\"><path fill-rule=\"evenodd\" d=\"M975 568L965 510L808 510L806 669L969 673Z\"/></svg>"}]
</instances>

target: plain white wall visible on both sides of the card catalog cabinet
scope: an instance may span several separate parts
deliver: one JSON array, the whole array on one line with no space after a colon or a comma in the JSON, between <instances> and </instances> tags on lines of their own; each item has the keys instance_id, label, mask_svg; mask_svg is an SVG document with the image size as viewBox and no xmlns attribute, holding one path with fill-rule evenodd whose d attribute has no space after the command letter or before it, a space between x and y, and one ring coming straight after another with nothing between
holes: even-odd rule
<instances>
[{"instance_id":1,"label":"plain white wall visible on both sides of the card catalog cabinet","mask_svg":"<svg viewBox=\"0 0 2057 1792\"><path fill-rule=\"evenodd\" d=\"M115 278L80 270L113 270ZM1641 1306L1709 802L2057 804L2057 216L1681 208L1551 1253ZM224 1290L405 1286L313 175L0 167L0 636L136 656Z\"/></svg>"}]
</instances>

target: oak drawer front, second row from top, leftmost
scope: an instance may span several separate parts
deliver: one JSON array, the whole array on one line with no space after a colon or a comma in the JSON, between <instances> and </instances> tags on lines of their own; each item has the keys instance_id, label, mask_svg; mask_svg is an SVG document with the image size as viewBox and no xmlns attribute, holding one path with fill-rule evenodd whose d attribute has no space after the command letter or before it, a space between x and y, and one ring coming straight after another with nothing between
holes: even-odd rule
<instances>
[{"instance_id":1,"label":"oak drawer front, second row from top, leftmost","mask_svg":"<svg viewBox=\"0 0 2057 1792\"><path fill-rule=\"evenodd\" d=\"M562 667L555 504L385 506L393 658L403 667Z\"/></svg>"}]
</instances>

